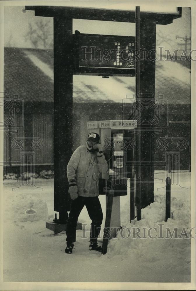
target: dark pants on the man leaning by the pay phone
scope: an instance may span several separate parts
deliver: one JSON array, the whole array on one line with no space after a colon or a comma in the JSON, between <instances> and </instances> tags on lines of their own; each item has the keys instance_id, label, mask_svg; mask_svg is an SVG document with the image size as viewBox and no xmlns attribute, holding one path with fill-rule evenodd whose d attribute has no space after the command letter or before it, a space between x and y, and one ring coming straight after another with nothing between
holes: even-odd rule
<instances>
[{"instance_id":1,"label":"dark pants on the man leaning by the pay phone","mask_svg":"<svg viewBox=\"0 0 196 291\"><path fill-rule=\"evenodd\" d=\"M101 230L101 223L103 220L103 213L99 198L78 196L75 200L71 200L71 210L67 221L66 241L68 243L74 242L78 216L84 205L88 211L88 215L92 220L90 229L90 240L97 241L97 237Z\"/></svg>"}]
</instances>

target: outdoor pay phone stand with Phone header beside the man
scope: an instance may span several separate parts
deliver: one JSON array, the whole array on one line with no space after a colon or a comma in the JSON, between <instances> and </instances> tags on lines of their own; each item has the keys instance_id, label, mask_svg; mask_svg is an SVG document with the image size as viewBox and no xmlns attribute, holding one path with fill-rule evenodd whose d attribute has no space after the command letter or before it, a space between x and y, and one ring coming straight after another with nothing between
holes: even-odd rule
<instances>
[{"instance_id":1,"label":"outdoor pay phone stand with Phone header beside the man","mask_svg":"<svg viewBox=\"0 0 196 291\"><path fill-rule=\"evenodd\" d=\"M108 172L100 174L99 194L106 195L113 189L113 206L110 227L110 238L116 236L120 229L120 196L129 195L134 188L131 178L133 175L133 153L135 147L135 120L104 120L87 123L88 131L96 132L100 136L100 143L104 148L104 155L108 162ZM132 179L133 181L133 179Z\"/></svg>"}]
</instances>

